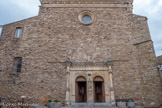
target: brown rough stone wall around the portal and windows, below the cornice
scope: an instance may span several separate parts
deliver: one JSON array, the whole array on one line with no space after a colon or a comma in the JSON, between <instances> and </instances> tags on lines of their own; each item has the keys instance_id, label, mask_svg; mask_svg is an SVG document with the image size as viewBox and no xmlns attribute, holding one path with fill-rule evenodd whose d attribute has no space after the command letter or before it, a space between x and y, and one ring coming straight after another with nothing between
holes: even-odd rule
<instances>
[{"instance_id":1,"label":"brown rough stone wall around the portal and windows, below the cornice","mask_svg":"<svg viewBox=\"0 0 162 108\"><path fill-rule=\"evenodd\" d=\"M83 11L95 16L89 26L78 20ZM14 39L17 26L23 26L20 39ZM111 58L115 98L160 105L160 78L149 40L147 19L125 8L41 7L39 16L3 26L0 96L10 102L22 95L42 104L48 99L64 102L67 58L76 62ZM23 57L19 75L12 74L14 57Z\"/></svg>"}]
</instances>

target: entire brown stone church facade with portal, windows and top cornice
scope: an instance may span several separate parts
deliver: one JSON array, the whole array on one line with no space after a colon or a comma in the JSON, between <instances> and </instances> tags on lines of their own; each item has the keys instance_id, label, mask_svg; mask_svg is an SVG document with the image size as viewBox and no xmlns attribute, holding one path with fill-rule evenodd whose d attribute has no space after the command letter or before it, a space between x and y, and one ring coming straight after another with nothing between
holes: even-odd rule
<instances>
[{"instance_id":1,"label":"entire brown stone church facade with portal, windows and top cornice","mask_svg":"<svg viewBox=\"0 0 162 108\"><path fill-rule=\"evenodd\" d=\"M3 25L2 101L162 104L147 18L132 0L40 2L38 16Z\"/></svg>"}]
</instances>

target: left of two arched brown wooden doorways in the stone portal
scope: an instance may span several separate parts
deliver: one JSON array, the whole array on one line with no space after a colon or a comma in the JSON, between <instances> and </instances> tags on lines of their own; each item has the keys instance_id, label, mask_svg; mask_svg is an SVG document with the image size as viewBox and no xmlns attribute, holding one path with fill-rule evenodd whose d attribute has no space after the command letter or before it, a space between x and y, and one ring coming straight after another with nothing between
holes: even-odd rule
<instances>
[{"instance_id":1,"label":"left of two arched brown wooden doorways in the stone portal","mask_svg":"<svg viewBox=\"0 0 162 108\"><path fill-rule=\"evenodd\" d=\"M87 81L83 76L76 78L76 102L87 102Z\"/></svg>"}]
</instances>

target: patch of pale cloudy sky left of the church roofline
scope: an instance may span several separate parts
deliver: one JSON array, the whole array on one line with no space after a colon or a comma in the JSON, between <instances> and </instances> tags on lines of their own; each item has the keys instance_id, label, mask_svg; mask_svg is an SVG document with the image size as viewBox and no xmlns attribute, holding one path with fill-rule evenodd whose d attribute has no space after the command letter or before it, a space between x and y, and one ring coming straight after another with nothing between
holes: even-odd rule
<instances>
[{"instance_id":1,"label":"patch of pale cloudy sky left of the church roofline","mask_svg":"<svg viewBox=\"0 0 162 108\"><path fill-rule=\"evenodd\" d=\"M0 25L36 16L39 0L1 0Z\"/></svg>"}]
</instances>

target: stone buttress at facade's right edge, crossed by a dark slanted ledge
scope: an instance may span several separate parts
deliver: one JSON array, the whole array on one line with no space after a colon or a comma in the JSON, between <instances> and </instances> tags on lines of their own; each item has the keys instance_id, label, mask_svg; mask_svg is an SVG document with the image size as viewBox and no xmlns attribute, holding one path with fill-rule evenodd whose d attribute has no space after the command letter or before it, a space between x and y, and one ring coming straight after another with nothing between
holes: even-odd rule
<instances>
[{"instance_id":1,"label":"stone buttress at facade's right edge, crossed by a dark slanted ledge","mask_svg":"<svg viewBox=\"0 0 162 108\"><path fill-rule=\"evenodd\" d=\"M162 86L157 71L155 51L147 25L147 18L142 18L137 15L134 15L133 17L136 18L136 21L133 21L133 36L135 37L134 41L136 42L134 44L136 47L136 60L139 65L138 78L140 78L142 98L145 101L143 104L153 104L158 100L158 98L160 99L162 97Z\"/></svg>"}]
</instances>

